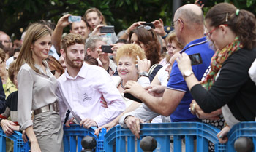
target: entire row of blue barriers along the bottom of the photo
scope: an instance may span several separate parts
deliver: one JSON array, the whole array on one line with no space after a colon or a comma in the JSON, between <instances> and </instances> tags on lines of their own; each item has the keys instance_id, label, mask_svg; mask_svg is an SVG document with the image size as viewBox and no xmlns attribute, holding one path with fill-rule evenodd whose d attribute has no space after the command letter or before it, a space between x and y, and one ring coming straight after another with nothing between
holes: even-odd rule
<instances>
[{"instance_id":1,"label":"entire row of blue barriers along the bottom of the photo","mask_svg":"<svg viewBox=\"0 0 256 152\"><path fill-rule=\"evenodd\" d=\"M229 152L234 150L234 143L238 137L250 137L254 144L256 152L256 122L241 122L236 124L228 133L228 142L220 144L217 139L219 129L208 124L197 122L183 123L162 123L162 124L141 124L140 139L135 140L135 136L129 129L124 129L120 126L113 127L106 133L106 129L97 137L94 135L96 127L84 129L79 125L71 125L64 127L64 151L65 152L80 152L82 150L81 140L86 135L94 137L97 141L96 152L112 152L113 145L116 145L116 151L137 151L140 149L140 140L146 136L152 136L157 140L157 149L155 152L170 151L170 137L173 137L174 151L181 151L182 139L185 139L186 151L194 151L194 140L197 140L197 152L208 151L208 141L214 143L215 151ZM15 132L10 137L7 137L0 127L0 152L6 151L6 137L14 141L14 152L28 152L29 145L22 140L20 132ZM126 143L127 140L127 143ZM126 147L127 146L127 147Z\"/></svg>"}]
</instances>

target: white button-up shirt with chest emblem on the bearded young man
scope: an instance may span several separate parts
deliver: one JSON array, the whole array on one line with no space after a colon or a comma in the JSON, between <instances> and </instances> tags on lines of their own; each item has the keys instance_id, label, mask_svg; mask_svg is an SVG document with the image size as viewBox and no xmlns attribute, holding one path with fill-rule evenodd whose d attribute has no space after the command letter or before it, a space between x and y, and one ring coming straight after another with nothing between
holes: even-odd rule
<instances>
[{"instance_id":1,"label":"white button-up shirt with chest emblem on the bearded young man","mask_svg":"<svg viewBox=\"0 0 256 152\"><path fill-rule=\"evenodd\" d=\"M125 103L110 75L95 65L83 64L75 78L67 70L58 79L56 95L59 97L59 115L69 109L75 119L93 119L98 127L115 119L125 109ZM100 97L105 98L108 108L102 107Z\"/></svg>"}]
</instances>

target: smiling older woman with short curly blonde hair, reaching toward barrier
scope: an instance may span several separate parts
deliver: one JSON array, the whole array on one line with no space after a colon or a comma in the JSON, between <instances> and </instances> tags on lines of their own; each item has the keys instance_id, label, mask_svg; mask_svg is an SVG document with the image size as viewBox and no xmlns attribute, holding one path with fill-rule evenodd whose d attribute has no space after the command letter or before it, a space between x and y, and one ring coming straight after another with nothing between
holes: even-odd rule
<instances>
[{"instance_id":1,"label":"smiling older woman with short curly blonde hair, reaching toward barrier","mask_svg":"<svg viewBox=\"0 0 256 152\"><path fill-rule=\"evenodd\" d=\"M119 47L116 52L116 63L118 76L112 76L113 80L115 81L116 87L121 95L124 95L124 85L129 80L138 81L139 84L143 84L143 78L138 79L138 68L137 63L141 60L146 60L145 52L142 48L140 48L137 44L124 44L123 46ZM130 111L134 111L135 108L138 108L141 103L137 103L133 100L129 100L124 97L124 101L127 105L126 110L121 113L120 116L116 117L113 121L108 124L105 124L102 127L99 127L95 131L95 134L99 133L99 130L102 128L106 128L107 131L118 124L118 120L124 113L128 113Z\"/></svg>"}]
</instances>

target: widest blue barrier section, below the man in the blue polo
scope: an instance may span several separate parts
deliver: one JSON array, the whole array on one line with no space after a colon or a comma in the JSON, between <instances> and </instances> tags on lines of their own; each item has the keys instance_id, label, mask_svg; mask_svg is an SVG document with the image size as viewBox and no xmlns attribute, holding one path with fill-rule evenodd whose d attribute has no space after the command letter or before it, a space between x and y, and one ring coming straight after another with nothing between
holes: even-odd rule
<instances>
[{"instance_id":1,"label":"widest blue barrier section, below the man in the blue polo","mask_svg":"<svg viewBox=\"0 0 256 152\"><path fill-rule=\"evenodd\" d=\"M152 136L157 140L155 151L170 151L170 136L173 136L174 151L181 151L181 140L185 137L186 151L194 151L194 140L197 139L197 152L208 151L208 141L215 145L215 151L226 151L226 146L220 144L217 139L219 129L208 124L197 122L184 123L162 123L162 124L141 124L140 139L145 136ZM135 136L129 129L120 126L110 129L105 135L105 151L113 151L113 144L116 141L116 151L125 151L127 138L127 151L135 151ZM141 152L140 139L137 140L137 151Z\"/></svg>"}]
</instances>

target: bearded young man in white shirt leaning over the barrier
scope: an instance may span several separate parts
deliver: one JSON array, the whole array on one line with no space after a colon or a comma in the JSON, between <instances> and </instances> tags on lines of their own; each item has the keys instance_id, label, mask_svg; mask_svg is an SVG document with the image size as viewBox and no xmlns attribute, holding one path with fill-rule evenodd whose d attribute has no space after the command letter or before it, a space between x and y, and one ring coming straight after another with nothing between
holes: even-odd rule
<instances>
[{"instance_id":1,"label":"bearded young man in white shirt leaning over the barrier","mask_svg":"<svg viewBox=\"0 0 256 152\"><path fill-rule=\"evenodd\" d=\"M69 33L61 40L61 55L67 70L59 77L56 95L59 97L61 121L69 109L85 128L100 127L124 111L125 104L109 74L98 66L83 62L85 45L82 36ZM108 108L102 107L104 97Z\"/></svg>"}]
</instances>

